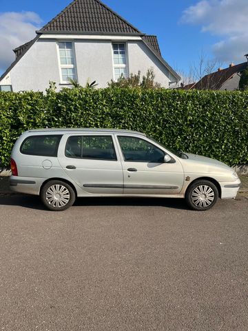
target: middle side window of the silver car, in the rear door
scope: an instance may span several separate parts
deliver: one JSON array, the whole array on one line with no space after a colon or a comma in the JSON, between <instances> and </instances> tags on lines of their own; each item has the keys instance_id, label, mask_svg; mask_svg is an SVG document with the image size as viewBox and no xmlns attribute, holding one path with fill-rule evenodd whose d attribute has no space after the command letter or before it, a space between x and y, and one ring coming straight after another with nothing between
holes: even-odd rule
<instances>
[{"instance_id":1,"label":"middle side window of the silver car, in the rear door","mask_svg":"<svg viewBox=\"0 0 248 331\"><path fill-rule=\"evenodd\" d=\"M69 137L65 156L79 159L117 160L111 136Z\"/></svg>"}]
</instances>

